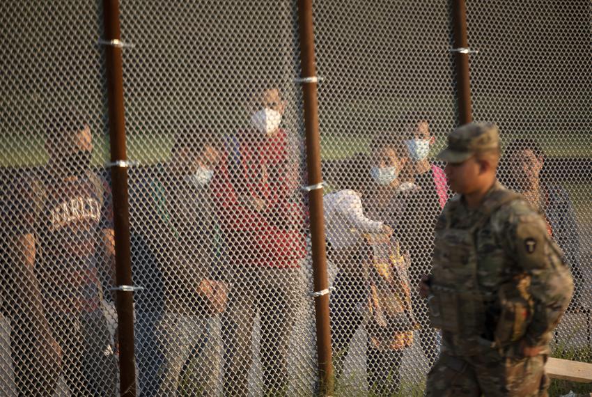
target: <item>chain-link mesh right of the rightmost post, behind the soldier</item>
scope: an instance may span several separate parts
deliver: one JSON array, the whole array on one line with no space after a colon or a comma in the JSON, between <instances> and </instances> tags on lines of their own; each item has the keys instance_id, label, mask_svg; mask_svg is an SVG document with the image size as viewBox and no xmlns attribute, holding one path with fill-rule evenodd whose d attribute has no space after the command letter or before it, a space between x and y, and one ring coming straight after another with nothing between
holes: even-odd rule
<instances>
[{"instance_id":1,"label":"chain-link mesh right of the rightmost post, behind the soldier","mask_svg":"<svg viewBox=\"0 0 592 397\"><path fill-rule=\"evenodd\" d=\"M547 220L575 283L556 357L592 361L592 3L467 1L474 118L501 131L499 178Z\"/></svg>"}]
</instances>

